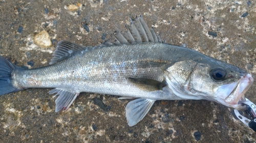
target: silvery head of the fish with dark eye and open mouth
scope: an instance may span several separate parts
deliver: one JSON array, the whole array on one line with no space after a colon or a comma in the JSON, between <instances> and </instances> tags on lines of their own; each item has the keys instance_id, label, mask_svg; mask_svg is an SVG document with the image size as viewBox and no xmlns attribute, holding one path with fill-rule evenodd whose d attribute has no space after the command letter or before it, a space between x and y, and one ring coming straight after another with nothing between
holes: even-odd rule
<instances>
[{"instance_id":1,"label":"silvery head of the fish with dark eye and open mouth","mask_svg":"<svg viewBox=\"0 0 256 143\"><path fill-rule=\"evenodd\" d=\"M207 57L207 60L180 61L166 69L167 85L182 99L216 101L236 109L244 109L239 101L253 83L245 70Z\"/></svg>"}]
</instances>

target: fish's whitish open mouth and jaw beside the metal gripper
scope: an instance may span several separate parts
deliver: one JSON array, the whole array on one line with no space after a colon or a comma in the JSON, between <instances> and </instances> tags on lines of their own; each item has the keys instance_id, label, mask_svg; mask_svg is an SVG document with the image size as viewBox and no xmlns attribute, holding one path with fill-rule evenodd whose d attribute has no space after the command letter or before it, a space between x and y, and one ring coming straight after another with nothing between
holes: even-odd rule
<instances>
[{"instance_id":1,"label":"fish's whitish open mouth and jaw beside the metal gripper","mask_svg":"<svg viewBox=\"0 0 256 143\"><path fill-rule=\"evenodd\" d=\"M239 101L245 101L244 94L251 87L253 80L251 74L246 74L236 82L221 85L216 92L217 100L223 105L238 110L244 109L244 104L240 104Z\"/></svg>"}]
</instances>

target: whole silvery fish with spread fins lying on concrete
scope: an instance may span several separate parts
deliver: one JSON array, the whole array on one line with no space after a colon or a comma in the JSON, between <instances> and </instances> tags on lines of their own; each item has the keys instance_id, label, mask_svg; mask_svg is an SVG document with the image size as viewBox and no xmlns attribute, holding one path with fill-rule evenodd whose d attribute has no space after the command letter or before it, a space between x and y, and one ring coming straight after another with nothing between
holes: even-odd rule
<instances>
[{"instance_id":1,"label":"whole silvery fish with spread fins lying on concrete","mask_svg":"<svg viewBox=\"0 0 256 143\"><path fill-rule=\"evenodd\" d=\"M114 42L89 47L59 41L48 66L23 69L0 56L0 95L53 88L55 111L67 111L82 93L134 99L125 107L129 126L141 121L157 100L209 100L244 109L254 77L196 50L161 41L143 17L131 19Z\"/></svg>"}]
</instances>

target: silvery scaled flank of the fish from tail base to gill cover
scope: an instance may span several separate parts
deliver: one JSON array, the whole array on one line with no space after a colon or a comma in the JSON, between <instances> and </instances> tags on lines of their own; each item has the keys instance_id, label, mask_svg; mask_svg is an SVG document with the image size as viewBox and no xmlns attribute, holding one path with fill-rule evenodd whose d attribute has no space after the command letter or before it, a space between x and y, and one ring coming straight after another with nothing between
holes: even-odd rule
<instances>
[{"instance_id":1,"label":"silvery scaled flank of the fish from tail base to gill cover","mask_svg":"<svg viewBox=\"0 0 256 143\"><path fill-rule=\"evenodd\" d=\"M18 71L14 73L12 81L25 89L65 88L117 95L127 90L122 94L127 96L131 92L127 86L132 86L127 81L127 76L163 81L163 66L177 60L182 52L174 49L175 46L162 43L103 47L90 52L79 52L44 68ZM187 48L183 50L190 52ZM170 56L171 54L176 56Z\"/></svg>"}]
</instances>

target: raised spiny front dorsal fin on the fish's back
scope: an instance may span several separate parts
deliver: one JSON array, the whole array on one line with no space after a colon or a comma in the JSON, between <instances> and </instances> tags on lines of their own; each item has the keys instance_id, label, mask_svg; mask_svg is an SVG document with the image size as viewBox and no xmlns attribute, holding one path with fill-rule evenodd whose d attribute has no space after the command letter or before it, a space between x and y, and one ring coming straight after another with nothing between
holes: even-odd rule
<instances>
[{"instance_id":1,"label":"raised spiny front dorsal fin on the fish's back","mask_svg":"<svg viewBox=\"0 0 256 143\"><path fill-rule=\"evenodd\" d=\"M127 32L117 33L117 44L132 44L141 42L162 42L160 36L157 36L153 28L148 28L143 17L140 15L135 20L131 19L131 25L126 26Z\"/></svg>"}]
</instances>

